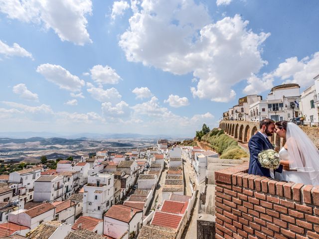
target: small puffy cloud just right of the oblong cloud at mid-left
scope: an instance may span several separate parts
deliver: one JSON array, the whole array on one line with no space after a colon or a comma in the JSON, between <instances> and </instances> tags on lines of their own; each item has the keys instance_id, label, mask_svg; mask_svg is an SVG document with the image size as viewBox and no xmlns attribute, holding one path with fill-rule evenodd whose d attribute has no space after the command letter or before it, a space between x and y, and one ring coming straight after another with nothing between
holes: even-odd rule
<instances>
[{"instance_id":1,"label":"small puffy cloud just right of the oblong cloud at mid-left","mask_svg":"<svg viewBox=\"0 0 319 239\"><path fill-rule=\"evenodd\" d=\"M122 96L115 88L103 90L102 88L90 88L87 91L91 97L99 102L118 103L121 101Z\"/></svg>"}]
</instances>

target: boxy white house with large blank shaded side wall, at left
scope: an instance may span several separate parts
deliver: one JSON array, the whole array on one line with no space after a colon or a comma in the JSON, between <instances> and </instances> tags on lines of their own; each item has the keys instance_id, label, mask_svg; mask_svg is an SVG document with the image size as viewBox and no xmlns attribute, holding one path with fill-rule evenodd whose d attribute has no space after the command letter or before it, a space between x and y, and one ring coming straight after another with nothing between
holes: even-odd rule
<instances>
[{"instance_id":1,"label":"boxy white house with large blank shaded side wall, at left","mask_svg":"<svg viewBox=\"0 0 319 239\"><path fill-rule=\"evenodd\" d=\"M34 182L34 202L62 200L63 178L61 176L41 176Z\"/></svg>"}]
</instances>

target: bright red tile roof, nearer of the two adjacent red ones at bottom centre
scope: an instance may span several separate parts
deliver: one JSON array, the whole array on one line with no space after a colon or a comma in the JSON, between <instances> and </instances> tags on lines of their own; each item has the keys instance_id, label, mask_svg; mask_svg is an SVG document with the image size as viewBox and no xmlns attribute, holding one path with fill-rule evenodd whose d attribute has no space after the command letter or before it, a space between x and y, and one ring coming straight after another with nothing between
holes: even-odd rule
<instances>
[{"instance_id":1,"label":"bright red tile roof, nearer of the two adjacent red ones at bottom centre","mask_svg":"<svg viewBox=\"0 0 319 239\"><path fill-rule=\"evenodd\" d=\"M175 214L156 211L151 224L164 228L177 229L181 219L181 216Z\"/></svg>"}]
</instances>

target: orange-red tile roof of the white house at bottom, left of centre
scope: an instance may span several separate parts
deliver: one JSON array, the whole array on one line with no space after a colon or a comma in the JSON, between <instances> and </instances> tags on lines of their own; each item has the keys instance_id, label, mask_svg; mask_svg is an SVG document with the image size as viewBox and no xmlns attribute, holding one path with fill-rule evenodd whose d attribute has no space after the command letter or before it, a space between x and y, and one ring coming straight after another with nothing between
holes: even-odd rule
<instances>
[{"instance_id":1,"label":"orange-red tile roof of the white house at bottom, left of centre","mask_svg":"<svg viewBox=\"0 0 319 239\"><path fill-rule=\"evenodd\" d=\"M129 223L132 219L131 210L133 210L133 216L141 210L131 208L125 205L113 205L105 214L105 217L113 218L122 222Z\"/></svg>"}]
</instances>

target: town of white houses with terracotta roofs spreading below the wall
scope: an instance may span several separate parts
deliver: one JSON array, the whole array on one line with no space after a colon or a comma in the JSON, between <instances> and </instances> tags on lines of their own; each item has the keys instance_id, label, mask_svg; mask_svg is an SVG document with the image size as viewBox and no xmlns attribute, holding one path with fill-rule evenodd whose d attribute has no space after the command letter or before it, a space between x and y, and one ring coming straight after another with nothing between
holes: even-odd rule
<instances>
[{"instance_id":1,"label":"town of white houses with terracotta roofs spreading below the wall","mask_svg":"<svg viewBox=\"0 0 319 239\"><path fill-rule=\"evenodd\" d=\"M183 238L208 156L217 154L160 139L148 149L101 150L56 169L39 164L1 175L0 237Z\"/></svg>"}]
</instances>

